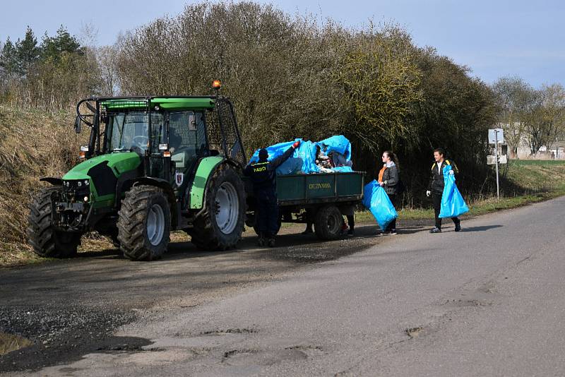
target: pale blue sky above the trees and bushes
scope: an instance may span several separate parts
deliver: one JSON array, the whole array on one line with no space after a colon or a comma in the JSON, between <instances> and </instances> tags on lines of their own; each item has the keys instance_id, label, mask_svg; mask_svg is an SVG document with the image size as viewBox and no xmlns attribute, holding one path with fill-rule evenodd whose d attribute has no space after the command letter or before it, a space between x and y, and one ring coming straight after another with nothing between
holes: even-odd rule
<instances>
[{"instance_id":1,"label":"pale blue sky above the trees and bushes","mask_svg":"<svg viewBox=\"0 0 565 377\"><path fill-rule=\"evenodd\" d=\"M30 25L38 40L62 24L74 35L83 25L97 29L97 44L112 44L120 31L180 13L180 0L6 1L0 8L0 40L17 40ZM535 87L565 85L565 1L557 0L367 0L259 1L287 13L315 13L342 25L362 27L369 19L403 25L416 44L472 69L492 83L521 76Z\"/></svg>"}]
</instances>

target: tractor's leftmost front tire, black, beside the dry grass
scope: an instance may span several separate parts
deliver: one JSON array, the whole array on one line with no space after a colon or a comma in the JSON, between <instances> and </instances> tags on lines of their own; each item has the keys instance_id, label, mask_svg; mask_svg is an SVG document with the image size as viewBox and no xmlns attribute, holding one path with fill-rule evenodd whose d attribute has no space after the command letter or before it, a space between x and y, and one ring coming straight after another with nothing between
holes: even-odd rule
<instances>
[{"instance_id":1,"label":"tractor's leftmost front tire, black, beside the dry grass","mask_svg":"<svg viewBox=\"0 0 565 377\"><path fill-rule=\"evenodd\" d=\"M81 244L81 233L61 232L52 227L51 196L60 187L42 188L30 204L28 216L28 243L38 256L47 258L71 258Z\"/></svg>"}]
</instances>

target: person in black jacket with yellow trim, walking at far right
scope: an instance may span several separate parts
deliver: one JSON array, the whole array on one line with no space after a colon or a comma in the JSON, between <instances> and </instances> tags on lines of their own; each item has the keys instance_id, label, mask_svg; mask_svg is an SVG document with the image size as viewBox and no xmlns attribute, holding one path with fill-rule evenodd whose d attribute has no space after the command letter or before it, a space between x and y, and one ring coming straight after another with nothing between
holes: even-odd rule
<instances>
[{"instance_id":1,"label":"person in black jacket with yellow trim, walking at far right","mask_svg":"<svg viewBox=\"0 0 565 377\"><path fill-rule=\"evenodd\" d=\"M441 233L441 217L439 216L441 212L441 198L444 195L444 168L447 174L455 175L459 172L457 165L450 160L444 158L445 152L441 148L434 150L434 160L432 164L431 175L429 179L428 190L426 191L426 196L432 196L432 203L434 204L434 213L436 217L436 225L430 230L430 233ZM455 224L455 231L459 232L461 230L461 221L457 216L451 217L453 224Z\"/></svg>"}]
</instances>

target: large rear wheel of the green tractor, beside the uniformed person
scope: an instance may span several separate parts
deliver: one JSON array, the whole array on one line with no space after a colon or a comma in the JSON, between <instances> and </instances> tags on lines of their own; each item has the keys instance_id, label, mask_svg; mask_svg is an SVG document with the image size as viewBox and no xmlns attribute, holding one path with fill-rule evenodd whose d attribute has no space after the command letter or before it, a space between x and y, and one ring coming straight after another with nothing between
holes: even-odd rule
<instances>
[{"instance_id":1,"label":"large rear wheel of the green tractor, beside the uniformed person","mask_svg":"<svg viewBox=\"0 0 565 377\"><path fill-rule=\"evenodd\" d=\"M243 181L232 167L221 164L210 176L207 187L206 209L196 217L194 227L188 230L191 242L204 250L232 249L242 238L244 230L246 201ZM224 217L220 201L231 203L227 217Z\"/></svg>"}]
</instances>

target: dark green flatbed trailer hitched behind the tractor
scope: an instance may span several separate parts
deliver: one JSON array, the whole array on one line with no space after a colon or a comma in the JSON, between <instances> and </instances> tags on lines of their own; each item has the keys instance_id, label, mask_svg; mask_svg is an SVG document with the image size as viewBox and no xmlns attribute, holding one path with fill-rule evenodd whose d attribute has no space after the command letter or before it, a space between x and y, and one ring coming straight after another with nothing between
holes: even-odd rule
<instances>
[{"instance_id":1,"label":"dark green flatbed trailer hitched behind the tractor","mask_svg":"<svg viewBox=\"0 0 565 377\"><path fill-rule=\"evenodd\" d=\"M279 227L283 222L314 224L322 240L342 235L343 216L353 215L363 198L365 172L277 176ZM250 191L248 191L250 192ZM254 226L254 203L248 202L247 225Z\"/></svg>"}]
</instances>

